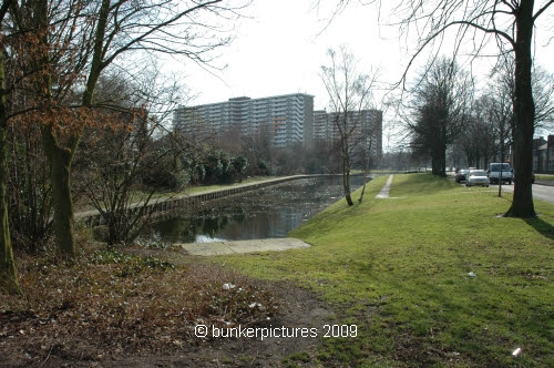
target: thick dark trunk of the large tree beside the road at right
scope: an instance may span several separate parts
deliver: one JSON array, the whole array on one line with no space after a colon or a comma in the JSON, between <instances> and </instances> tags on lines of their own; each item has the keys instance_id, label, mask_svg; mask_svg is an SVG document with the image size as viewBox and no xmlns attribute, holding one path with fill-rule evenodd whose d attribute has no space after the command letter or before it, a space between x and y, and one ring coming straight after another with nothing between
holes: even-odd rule
<instances>
[{"instance_id":1,"label":"thick dark trunk of the large tree beside the road at right","mask_svg":"<svg viewBox=\"0 0 554 368\"><path fill-rule=\"evenodd\" d=\"M516 17L515 40L515 100L514 117L514 168L517 182L514 184L512 206L505 214L511 217L534 217L531 175L533 171L533 134L535 104L531 84L533 0L522 0Z\"/></svg>"}]
</instances>

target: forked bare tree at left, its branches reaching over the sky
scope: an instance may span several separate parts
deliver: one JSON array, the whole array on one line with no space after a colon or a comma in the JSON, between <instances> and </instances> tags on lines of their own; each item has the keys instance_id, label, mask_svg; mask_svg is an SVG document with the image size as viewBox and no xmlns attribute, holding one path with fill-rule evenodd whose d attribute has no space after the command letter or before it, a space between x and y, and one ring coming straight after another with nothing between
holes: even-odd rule
<instances>
[{"instance_id":1,"label":"forked bare tree at left, its branches reaching over the sky","mask_svg":"<svg viewBox=\"0 0 554 368\"><path fill-rule=\"evenodd\" d=\"M42 134L51 167L54 236L60 255L71 257L71 164L83 130L99 108L94 91L100 76L122 62L124 54L136 58L137 51L209 65L213 51L230 42L222 23L235 18L237 8L224 0L37 0L32 6L22 1L13 9L16 27L37 34L37 110L55 117L43 120ZM81 80L83 84L78 83ZM61 99L68 92L75 98Z\"/></svg>"}]
</instances>

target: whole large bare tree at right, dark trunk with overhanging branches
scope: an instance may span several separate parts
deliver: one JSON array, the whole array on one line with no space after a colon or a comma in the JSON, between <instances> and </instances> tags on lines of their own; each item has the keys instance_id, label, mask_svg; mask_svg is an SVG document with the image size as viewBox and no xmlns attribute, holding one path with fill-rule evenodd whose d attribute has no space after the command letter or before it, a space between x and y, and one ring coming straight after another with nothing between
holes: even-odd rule
<instances>
[{"instance_id":1,"label":"whole large bare tree at right, dark trunk with overhanging branches","mask_svg":"<svg viewBox=\"0 0 554 368\"><path fill-rule=\"evenodd\" d=\"M340 12L351 0L339 0ZM370 1L379 9L381 0ZM448 30L454 30L454 53L464 41L470 40L474 53L484 53L484 45L494 42L499 51L513 52L514 68L514 167L520 180L514 187L512 205L506 216L534 217L531 174L533 170L533 134L535 102L533 100L533 31L547 11L553 9L554 0L542 0L535 7L534 0L397 0L393 13L400 17L401 31L408 34L416 29L419 44L408 69L423 50L442 43ZM430 59L434 59L430 54ZM406 81L406 73L403 75Z\"/></svg>"}]
</instances>

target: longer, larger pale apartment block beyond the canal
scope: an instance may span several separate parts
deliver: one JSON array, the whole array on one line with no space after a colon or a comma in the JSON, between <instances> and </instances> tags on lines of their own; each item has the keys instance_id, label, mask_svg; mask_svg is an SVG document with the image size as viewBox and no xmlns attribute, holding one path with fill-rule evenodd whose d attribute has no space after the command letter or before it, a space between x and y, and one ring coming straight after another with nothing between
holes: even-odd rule
<instances>
[{"instance_id":1,"label":"longer, larger pale apartment block beyond the canal","mask_svg":"<svg viewBox=\"0 0 554 368\"><path fill-rule=\"evenodd\" d=\"M238 130L243 135L266 132L276 147L314 143L314 96L304 93L263 99L236 98L226 102L179 108L174 129L195 137L224 137Z\"/></svg>"}]
</instances>

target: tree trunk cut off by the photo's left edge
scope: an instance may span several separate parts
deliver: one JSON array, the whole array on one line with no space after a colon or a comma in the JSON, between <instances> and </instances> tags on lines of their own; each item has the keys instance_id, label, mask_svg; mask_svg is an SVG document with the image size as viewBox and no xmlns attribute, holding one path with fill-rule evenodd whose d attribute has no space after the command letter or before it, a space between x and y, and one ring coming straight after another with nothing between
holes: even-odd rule
<instances>
[{"instance_id":1,"label":"tree trunk cut off by the photo's left edge","mask_svg":"<svg viewBox=\"0 0 554 368\"><path fill-rule=\"evenodd\" d=\"M6 110L6 73L3 53L0 52L0 288L10 294L20 293L18 270L13 260L8 218L8 142Z\"/></svg>"}]
</instances>

